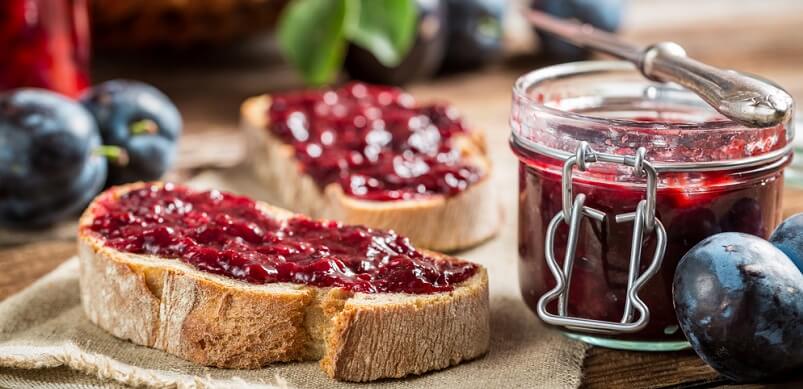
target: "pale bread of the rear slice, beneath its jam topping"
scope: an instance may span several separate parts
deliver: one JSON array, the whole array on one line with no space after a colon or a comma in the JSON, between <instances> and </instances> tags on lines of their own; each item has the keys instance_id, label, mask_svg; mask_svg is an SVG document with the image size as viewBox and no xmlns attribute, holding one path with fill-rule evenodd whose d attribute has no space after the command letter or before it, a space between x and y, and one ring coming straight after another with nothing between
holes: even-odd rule
<instances>
[{"instance_id":1,"label":"pale bread of the rear slice, beneath its jam topping","mask_svg":"<svg viewBox=\"0 0 803 389\"><path fill-rule=\"evenodd\" d=\"M271 193L271 202L312 217L393 229L419 247L438 251L467 248L492 237L502 221L489 174L485 140L479 132L453 139L464 160L476 166L480 181L454 196L366 201L347 196L339 184L321 190L301 171L293 148L268 130L268 95L252 97L241 107L241 126L248 137L250 162Z\"/></svg>"}]
</instances>

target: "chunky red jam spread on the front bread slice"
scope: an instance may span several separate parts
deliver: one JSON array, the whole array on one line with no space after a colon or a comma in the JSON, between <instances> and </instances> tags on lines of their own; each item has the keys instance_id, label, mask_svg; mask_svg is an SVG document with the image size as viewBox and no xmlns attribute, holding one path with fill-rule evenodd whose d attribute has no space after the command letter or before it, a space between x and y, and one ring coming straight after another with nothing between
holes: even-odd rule
<instances>
[{"instance_id":1,"label":"chunky red jam spread on the front bread slice","mask_svg":"<svg viewBox=\"0 0 803 389\"><path fill-rule=\"evenodd\" d=\"M422 294L450 291L477 270L426 256L390 231L301 216L279 221L253 200L218 191L146 186L99 204L85 228L107 246L254 284Z\"/></svg>"}]
</instances>

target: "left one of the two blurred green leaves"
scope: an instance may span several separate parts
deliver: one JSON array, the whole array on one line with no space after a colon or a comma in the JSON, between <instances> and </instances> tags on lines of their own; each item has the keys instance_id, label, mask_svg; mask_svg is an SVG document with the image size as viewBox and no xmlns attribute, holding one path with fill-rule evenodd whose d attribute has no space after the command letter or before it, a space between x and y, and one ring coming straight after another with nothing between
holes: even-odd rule
<instances>
[{"instance_id":1,"label":"left one of the two blurred green leaves","mask_svg":"<svg viewBox=\"0 0 803 389\"><path fill-rule=\"evenodd\" d=\"M346 52L348 0L293 0L279 20L279 49L312 85L332 82Z\"/></svg>"}]
</instances>

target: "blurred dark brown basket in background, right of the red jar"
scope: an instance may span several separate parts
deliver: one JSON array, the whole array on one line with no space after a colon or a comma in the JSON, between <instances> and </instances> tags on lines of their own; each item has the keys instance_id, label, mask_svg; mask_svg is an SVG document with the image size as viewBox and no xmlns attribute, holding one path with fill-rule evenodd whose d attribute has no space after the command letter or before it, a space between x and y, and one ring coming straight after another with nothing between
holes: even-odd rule
<instances>
[{"instance_id":1,"label":"blurred dark brown basket in background, right of the red jar","mask_svg":"<svg viewBox=\"0 0 803 389\"><path fill-rule=\"evenodd\" d=\"M265 30L289 0L89 0L101 48L226 44Z\"/></svg>"}]
</instances>

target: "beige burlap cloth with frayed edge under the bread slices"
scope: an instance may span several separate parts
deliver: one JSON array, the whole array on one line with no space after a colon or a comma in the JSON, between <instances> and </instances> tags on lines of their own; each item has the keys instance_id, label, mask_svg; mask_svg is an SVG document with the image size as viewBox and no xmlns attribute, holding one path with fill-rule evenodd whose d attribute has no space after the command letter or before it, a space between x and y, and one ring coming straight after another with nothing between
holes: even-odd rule
<instances>
[{"instance_id":1,"label":"beige burlap cloth with frayed edge under the bread slices","mask_svg":"<svg viewBox=\"0 0 803 389\"><path fill-rule=\"evenodd\" d=\"M509 166L509 165L508 165ZM78 297L78 263L71 259L29 288L0 303L0 386L96 388L574 388L586 347L546 329L521 301L516 272L515 170L500 171L506 204L500 235L459 253L488 268L491 348L480 359L402 380L350 384L327 378L316 362L275 364L259 370L193 365L161 351L121 341L92 325ZM242 170L204 173L191 183L264 197ZM98 380L98 377L102 380Z\"/></svg>"}]
</instances>

